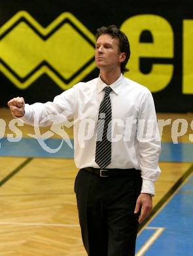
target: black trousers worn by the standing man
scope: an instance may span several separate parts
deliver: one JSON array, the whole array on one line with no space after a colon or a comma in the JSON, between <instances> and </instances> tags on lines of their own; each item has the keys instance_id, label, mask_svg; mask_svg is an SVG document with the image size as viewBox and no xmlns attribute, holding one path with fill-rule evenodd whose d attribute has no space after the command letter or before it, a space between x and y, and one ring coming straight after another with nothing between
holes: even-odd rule
<instances>
[{"instance_id":1,"label":"black trousers worn by the standing man","mask_svg":"<svg viewBox=\"0 0 193 256\"><path fill-rule=\"evenodd\" d=\"M133 175L135 173L135 175ZM99 177L80 169L75 179L82 241L88 256L134 256L141 173Z\"/></svg>"}]
</instances>

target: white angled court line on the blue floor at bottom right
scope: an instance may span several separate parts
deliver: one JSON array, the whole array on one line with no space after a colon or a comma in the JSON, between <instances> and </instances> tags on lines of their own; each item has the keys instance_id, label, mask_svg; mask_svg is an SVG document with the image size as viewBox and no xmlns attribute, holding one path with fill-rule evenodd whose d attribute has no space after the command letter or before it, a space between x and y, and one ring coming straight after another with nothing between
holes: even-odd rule
<instances>
[{"instance_id":1,"label":"white angled court line on the blue floor at bottom right","mask_svg":"<svg viewBox=\"0 0 193 256\"><path fill-rule=\"evenodd\" d=\"M165 228L147 226L145 229L154 229L156 231L154 232L154 234L152 234L152 236L150 236L150 238L147 240L147 242L145 242L145 244L141 247L141 249L139 249L139 251L137 251L135 256L143 256L144 253L149 249L149 247L152 244L154 244L154 242L158 239L160 234L162 234L162 232L164 231Z\"/></svg>"}]
</instances>

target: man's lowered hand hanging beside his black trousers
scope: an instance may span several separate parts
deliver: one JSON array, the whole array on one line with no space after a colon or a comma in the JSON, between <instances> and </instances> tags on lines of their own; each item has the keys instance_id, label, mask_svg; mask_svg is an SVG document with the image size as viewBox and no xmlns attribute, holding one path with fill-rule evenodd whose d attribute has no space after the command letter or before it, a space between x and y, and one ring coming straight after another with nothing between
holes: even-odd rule
<instances>
[{"instance_id":1,"label":"man's lowered hand hanging beside his black trousers","mask_svg":"<svg viewBox=\"0 0 193 256\"><path fill-rule=\"evenodd\" d=\"M142 206L142 207L141 207ZM142 223L150 214L152 210L152 197L150 194L141 193L137 198L137 202L135 205L134 213L138 213L141 208L141 213L139 215L139 223Z\"/></svg>"}]
</instances>

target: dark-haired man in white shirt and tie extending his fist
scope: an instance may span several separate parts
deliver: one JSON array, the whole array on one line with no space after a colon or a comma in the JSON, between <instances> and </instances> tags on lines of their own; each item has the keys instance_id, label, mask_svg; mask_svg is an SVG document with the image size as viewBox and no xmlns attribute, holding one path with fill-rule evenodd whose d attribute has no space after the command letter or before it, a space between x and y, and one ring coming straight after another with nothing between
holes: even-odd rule
<instances>
[{"instance_id":1,"label":"dark-haired man in white shirt and tie extending his fist","mask_svg":"<svg viewBox=\"0 0 193 256\"><path fill-rule=\"evenodd\" d=\"M44 119L51 115L75 119L75 193L84 247L89 256L133 256L137 227L150 214L160 174L156 112L150 91L122 75L130 44L116 26L97 30L95 58L96 79L53 102L29 105L17 97L8 105L31 125L35 118L50 125L54 119Z\"/></svg>"}]
</instances>

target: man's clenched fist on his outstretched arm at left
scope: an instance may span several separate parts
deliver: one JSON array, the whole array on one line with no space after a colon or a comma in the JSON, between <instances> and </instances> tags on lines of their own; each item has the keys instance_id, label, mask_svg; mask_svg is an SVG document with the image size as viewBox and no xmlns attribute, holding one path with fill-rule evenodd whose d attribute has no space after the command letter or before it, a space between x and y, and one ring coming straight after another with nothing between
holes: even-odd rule
<instances>
[{"instance_id":1,"label":"man's clenched fist on his outstretched arm at left","mask_svg":"<svg viewBox=\"0 0 193 256\"><path fill-rule=\"evenodd\" d=\"M7 102L12 116L22 117L25 114L25 101L22 97L12 98Z\"/></svg>"}]
</instances>

